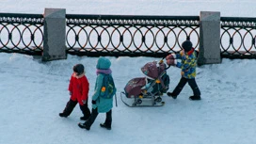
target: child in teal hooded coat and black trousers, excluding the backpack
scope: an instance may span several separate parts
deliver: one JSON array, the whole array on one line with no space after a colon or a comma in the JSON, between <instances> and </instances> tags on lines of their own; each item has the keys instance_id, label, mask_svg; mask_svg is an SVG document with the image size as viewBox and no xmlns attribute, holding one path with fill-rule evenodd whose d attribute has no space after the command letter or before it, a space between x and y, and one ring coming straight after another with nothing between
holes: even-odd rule
<instances>
[{"instance_id":1,"label":"child in teal hooded coat and black trousers, excluding the backpack","mask_svg":"<svg viewBox=\"0 0 256 144\"><path fill-rule=\"evenodd\" d=\"M113 107L113 98L103 98L100 96L104 81L104 74L111 75L110 69L111 62L105 57L100 57L97 62L97 79L94 88L94 94L92 96L92 110L89 119L84 123L78 123L80 128L90 129L90 126L96 120L99 113L106 113L106 118L104 123L101 123L100 126L111 130L112 124L112 107ZM112 76L112 75L111 75Z\"/></svg>"}]
</instances>

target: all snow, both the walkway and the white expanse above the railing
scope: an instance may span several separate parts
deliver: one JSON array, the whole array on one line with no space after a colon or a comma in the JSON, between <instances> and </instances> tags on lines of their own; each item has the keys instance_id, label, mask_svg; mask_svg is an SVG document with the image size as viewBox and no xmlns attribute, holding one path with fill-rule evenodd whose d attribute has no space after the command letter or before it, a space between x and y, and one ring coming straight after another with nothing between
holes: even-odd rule
<instances>
[{"instance_id":1,"label":"all snow, both the walkway and the white expanse above the railing","mask_svg":"<svg viewBox=\"0 0 256 144\"><path fill-rule=\"evenodd\" d=\"M223 16L255 17L253 0L4 0L2 12L42 13L44 8L67 8L67 13L199 15L220 11ZM15 4L15 5L13 5ZM18 6L23 7L18 7ZM40 57L0 53L1 144L252 144L256 142L255 59L226 59L221 64L197 69L202 100L189 101L185 86L176 100L164 96L162 107L130 108L120 101L126 83L143 76L139 71L152 57L108 57L118 88L118 107L113 107L112 130L100 128L100 114L90 131L77 126L78 107L59 118L70 96L67 90L72 66L82 63L90 83L96 79L97 57L68 56L41 62ZM180 70L171 67L169 89L176 87ZM89 98L89 102L90 102ZM91 107L91 104L89 104Z\"/></svg>"}]
</instances>

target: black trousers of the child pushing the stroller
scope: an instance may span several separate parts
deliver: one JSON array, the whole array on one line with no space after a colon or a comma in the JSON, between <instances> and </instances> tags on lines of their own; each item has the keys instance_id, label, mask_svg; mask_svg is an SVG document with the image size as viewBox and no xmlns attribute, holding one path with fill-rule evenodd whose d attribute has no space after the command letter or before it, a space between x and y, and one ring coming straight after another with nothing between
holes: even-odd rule
<instances>
[{"instance_id":1,"label":"black trousers of the child pushing the stroller","mask_svg":"<svg viewBox=\"0 0 256 144\"><path fill-rule=\"evenodd\" d=\"M185 84L188 82L188 85L190 86L190 88L192 88L194 96L200 96L200 88L197 85L197 82L195 80L195 78L193 79L187 79L182 77L179 84L177 85L176 88L174 88L174 90L172 91L172 94L174 96L177 96L180 94L180 92L183 90Z\"/></svg>"}]
</instances>

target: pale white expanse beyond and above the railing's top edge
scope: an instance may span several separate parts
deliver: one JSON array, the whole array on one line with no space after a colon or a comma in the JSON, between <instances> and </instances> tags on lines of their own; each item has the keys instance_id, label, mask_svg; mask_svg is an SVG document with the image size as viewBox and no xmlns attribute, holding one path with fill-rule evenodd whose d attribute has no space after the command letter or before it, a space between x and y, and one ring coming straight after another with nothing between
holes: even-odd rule
<instances>
[{"instance_id":1,"label":"pale white expanse beyond and above the railing's top edge","mask_svg":"<svg viewBox=\"0 0 256 144\"><path fill-rule=\"evenodd\" d=\"M2 0L1 11L43 13L44 8L66 8L68 14L125 15L200 15L200 11L220 11L221 16L255 17L255 4L254 0Z\"/></svg>"}]
</instances>

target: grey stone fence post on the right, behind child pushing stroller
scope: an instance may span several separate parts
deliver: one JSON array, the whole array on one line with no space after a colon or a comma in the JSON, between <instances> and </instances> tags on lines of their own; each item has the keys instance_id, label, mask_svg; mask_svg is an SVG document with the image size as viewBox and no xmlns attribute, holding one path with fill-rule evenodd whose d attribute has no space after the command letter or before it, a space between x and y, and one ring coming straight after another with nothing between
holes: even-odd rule
<instances>
[{"instance_id":1,"label":"grey stone fence post on the right, behind child pushing stroller","mask_svg":"<svg viewBox=\"0 0 256 144\"><path fill-rule=\"evenodd\" d=\"M198 64L221 63L220 12L200 11L200 54Z\"/></svg>"}]
</instances>

